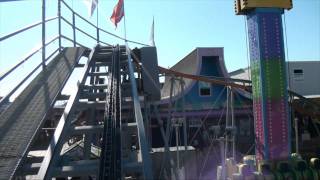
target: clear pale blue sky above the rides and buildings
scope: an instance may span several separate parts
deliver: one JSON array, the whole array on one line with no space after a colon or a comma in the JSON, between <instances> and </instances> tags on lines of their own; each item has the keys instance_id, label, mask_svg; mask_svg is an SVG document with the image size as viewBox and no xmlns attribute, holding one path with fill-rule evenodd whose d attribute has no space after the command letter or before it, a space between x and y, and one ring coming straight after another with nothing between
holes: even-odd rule
<instances>
[{"instance_id":1,"label":"clear pale blue sky above the rides and buildings","mask_svg":"<svg viewBox=\"0 0 320 180\"><path fill-rule=\"evenodd\" d=\"M109 17L116 0L99 0L99 26L123 36L123 24L115 29ZM66 0L79 14L96 24L96 14L90 18L83 0ZM289 60L320 60L320 0L293 0L294 8L286 11ZM57 14L57 1L47 1L47 17ZM72 20L63 8L62 14ZM248 66L246 32L243 16L234 14L233 0L125 0L128 39L149 43L152 17L155 19L155 43L159 64L172 66L196 47L224 47L225 63L229 71ZM41 20L41 1L25 0L0 3L0 37ZM81 28L95 34L80 19ZM57 34L57 21L48 24L47 38ZM71 36L71 28L63 25L63 34ZM108 35L101 34L104 41L123 44ZM94 41L77 33L77 38L89 47ZM0 73L17 63L24 55L41 43L40 26L15 38L0 42ZM57 47L57 42L48 51ZM64 41L64 46L71 46ZM135 45L131 44L131 48ZM48 52L49 53L49 52ZM19 71L26 74L40 62L35 56ZM27 69L29 69L27 71ZM15 76L16 77L16 76ZM6 86L1 85L1 91Z\"/></svg>"}]
</instances>

